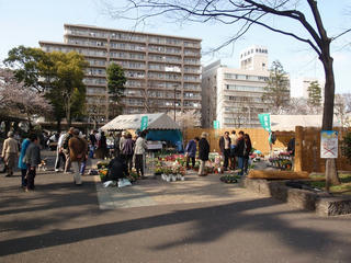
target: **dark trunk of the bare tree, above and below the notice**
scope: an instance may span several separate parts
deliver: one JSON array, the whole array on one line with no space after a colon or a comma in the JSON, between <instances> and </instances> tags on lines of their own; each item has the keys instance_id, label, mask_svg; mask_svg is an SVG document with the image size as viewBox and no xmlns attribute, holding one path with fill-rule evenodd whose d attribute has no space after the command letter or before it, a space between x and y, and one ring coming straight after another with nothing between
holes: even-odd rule
<instances>
[{"instance_id":1,"label":"dark trunk of the bare tree, above and below the notice","mask_svg":"<svg viewBox=\"0 0 351 263\"><path fill-rule=\"evenodd\" d=\"M333 100L335 100L335 77L332 70L332 58L329 53L329 44L326 44L322 53L322 65L326 76L325 85L325 103L322 113L322 126L324 130L332 130L332 119L333 119ZM336 159L326 160L326 188L329 191L331 184L340 184L340 179L338 176L338 170L336 164Z\"/></svg>"}]
</instances>

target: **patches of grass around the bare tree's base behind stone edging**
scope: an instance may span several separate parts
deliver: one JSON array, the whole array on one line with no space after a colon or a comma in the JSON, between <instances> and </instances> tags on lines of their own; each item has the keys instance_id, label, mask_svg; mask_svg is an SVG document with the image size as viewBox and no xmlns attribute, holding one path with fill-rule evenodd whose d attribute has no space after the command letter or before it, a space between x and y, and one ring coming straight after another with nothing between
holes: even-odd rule
<instances>
[{"instance_id":1,"label":"patches of grass around the bare tree's base behind stone edging","mask_svg":"<svg viewBox=\"0 0 351 263\"><path fill-rule=\"evenodd\" d=\"M326 190L326 181L325 175L316 174L310 176L313 181L310 185L316 188ZM351 173L343 173L339 175L341 184L339 185L331 185L330 193L333 194L344 194L351 195Z\"/></svg>"}]
</instances>

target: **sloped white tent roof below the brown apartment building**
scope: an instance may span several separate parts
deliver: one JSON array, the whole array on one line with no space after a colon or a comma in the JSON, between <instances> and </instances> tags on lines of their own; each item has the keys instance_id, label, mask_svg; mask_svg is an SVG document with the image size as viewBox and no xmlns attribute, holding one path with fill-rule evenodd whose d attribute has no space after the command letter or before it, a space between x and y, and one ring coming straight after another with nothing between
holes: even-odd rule
<instances>
[{"instance_id":1,"label":"sloped white tent roof below the brown apartment building","mask_svg":"<svg viewBox=\"0 0 351 263\"><path fill-rule=\"evenodd\" d=\"M101 127L102 130L139 129L141 117L148 117L147 129L180 129L166 113L120 115Z\"/></svg>"}]
</instances>

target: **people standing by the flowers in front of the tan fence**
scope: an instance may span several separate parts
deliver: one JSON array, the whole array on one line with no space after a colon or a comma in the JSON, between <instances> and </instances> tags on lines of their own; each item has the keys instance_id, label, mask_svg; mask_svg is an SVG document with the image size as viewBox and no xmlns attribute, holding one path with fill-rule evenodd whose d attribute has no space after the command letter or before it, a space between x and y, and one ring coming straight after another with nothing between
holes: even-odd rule
<instances>
[{"instance_id":1,"label":"people standing by the flowers in front of the tan fence","mask_svg":"<svg viewBox=\"0 0 351 263\"><path fill-rule=\"evenodd\" d=\"M199 142L200 176L206 175L205 162L208 160L210 155L207 137L207 133L202 133L201 138L195 137L191 139L185 147L186 168L190 169L190 161L192 161L192 167L195 165L196 142ZM224 170L235 170L238 168L240 170L239 175L248 172L249 156L252 151L251 139L248 134L240 130L237 135L236 132L233 130L229 135L229 132L225 132L219 138L219 151L224 159Z\"/></svg>"}]
</instances>

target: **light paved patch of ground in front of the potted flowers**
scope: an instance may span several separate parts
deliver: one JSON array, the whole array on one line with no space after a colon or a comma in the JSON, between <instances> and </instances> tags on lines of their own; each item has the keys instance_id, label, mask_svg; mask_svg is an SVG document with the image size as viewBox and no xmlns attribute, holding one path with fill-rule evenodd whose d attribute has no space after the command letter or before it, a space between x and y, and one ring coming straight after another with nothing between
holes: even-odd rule
<instances>
[{"instance_id":1,"label":"light paved patch of ground in front of the potted flowers","mask_svg":"<svg viewBox=\"0 0 351 263\"><path fill-rule=\"evenodd\" d=\"M148 176L151 178L151 176ZM238 184L225 184L220 175L212 174L200 178L188 171L185 181L166 182L158 179L137 181L133 186L123 188L103 187L97 176L97 192L101 209L127 207L174 205L191 203L208 203L230 201L240 195L242 198L252 196Z\"/></svg>"}]
</instances>

